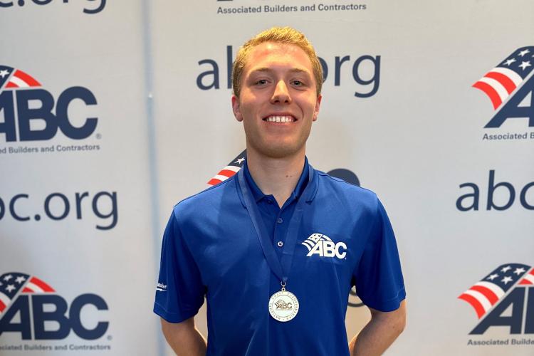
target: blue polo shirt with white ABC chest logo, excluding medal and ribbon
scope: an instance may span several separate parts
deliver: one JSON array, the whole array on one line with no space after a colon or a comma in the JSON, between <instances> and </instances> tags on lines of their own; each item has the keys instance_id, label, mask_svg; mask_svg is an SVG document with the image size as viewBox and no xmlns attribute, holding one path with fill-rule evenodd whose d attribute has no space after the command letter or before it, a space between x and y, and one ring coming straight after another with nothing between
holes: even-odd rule
<instances>
[{"instance_id":1,"label":"blue polo shirt with white ABC chest logo, excluding medal and ribbon","mask_svg":"<svg viewBox=\"0 0 534 356\"><path fill-rule=\"evenodd\" d=\"M311 180L308 182L308 172ZM271 318L268 300L281 289L234 177L179 202L164 232L154 311L170 323L198 313L207 300L207 355L349 355L345 313L350 289L382 311L405 298L397 245L373 192L319 172L305 162L281 208L244 166L278 256L298 199L298 226L286 289L300 303L286 323Z\"/></svg>"}]
</instances>

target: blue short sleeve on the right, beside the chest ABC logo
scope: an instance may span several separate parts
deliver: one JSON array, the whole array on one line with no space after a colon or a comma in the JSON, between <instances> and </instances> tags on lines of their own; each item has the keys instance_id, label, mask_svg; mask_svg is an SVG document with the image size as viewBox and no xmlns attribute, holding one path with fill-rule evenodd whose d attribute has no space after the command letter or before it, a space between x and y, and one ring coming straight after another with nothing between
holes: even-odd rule
<instances>
[{"instance_id":1,"label":"blue short sleeve on the right, beside the chest ABC logo","mask_svg":"<svg viewBox=\"0 0 534 356\"><path fill-rule=\"evenodd\" d=\"M397 310L406 298L397 243L384 206L379 200L370 236L353 278L357 295L370 308L380 311Z\"/></svg>"}]
</instances>

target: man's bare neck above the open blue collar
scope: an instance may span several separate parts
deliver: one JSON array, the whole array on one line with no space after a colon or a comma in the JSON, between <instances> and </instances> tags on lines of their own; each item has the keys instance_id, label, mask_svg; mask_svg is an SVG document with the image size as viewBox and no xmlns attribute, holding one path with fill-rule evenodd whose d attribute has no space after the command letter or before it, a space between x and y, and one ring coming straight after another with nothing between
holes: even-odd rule
<instances>
[{"instance_id":1,"label":"man's bare neck above the open blue collar","mask_svg":"<svg viewBox=\"0 0 534 356\"><path fill-rule=\"evenodd\" d=\"M280 207L295 190L304 162L304 151L283 158L265 157L253 150L246 152L246 164L254 182L263 194L272 194Z\"/></svg>"}]
</instances>

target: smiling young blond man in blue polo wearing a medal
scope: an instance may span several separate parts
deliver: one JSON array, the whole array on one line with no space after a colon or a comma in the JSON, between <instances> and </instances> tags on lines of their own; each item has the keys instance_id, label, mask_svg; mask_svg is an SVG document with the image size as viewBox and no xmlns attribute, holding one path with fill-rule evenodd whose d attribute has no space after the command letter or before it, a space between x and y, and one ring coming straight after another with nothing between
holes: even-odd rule
<instances>
[{"instance_id":1,"label":"smiling young blond man in blue polo wearing a medal","mask_svg":"<svg viewBox=\"0 0 534 356\"><path fill-rule=\"evenodd\" d=\"M164 233L154 310L177 355L381 355L402 332L404 283L382 204L305 157L322 81L293 28L239 50L231 100L246 164L174 206ZM372 318L348 342L353 285ZM204 295L207 346L193 319Z\"/></svg>"}]
</instances>

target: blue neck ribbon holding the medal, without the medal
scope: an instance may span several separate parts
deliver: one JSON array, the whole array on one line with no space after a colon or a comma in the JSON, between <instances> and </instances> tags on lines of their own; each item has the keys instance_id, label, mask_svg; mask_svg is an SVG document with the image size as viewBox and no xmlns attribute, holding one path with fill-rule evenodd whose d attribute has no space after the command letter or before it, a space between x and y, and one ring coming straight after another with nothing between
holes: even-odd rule
<instances>
[{"instance_id":1,"label":"blue neck ribbon holding the medal, without the medal","mask_svg":"<svg viewBox=\"0 0 534 356\"><path fill-rule=\"evenodd\" d=\"M308 195L313 194L313 188L311 184L313 179L313 167L311 167L310 164L308 164L308 170L308 185L305 187L303 194L300 195L297 201L297 206L295 206L295 211L293 211L293 216L291 216L288 232L286 234L286 244L282 251L282 261L280 261L278 256L276 256L276 251L270 237L267 234L267 229L263 219L261 219L258 206L252 198L250 189L248 189L248 184L246 183L243 172L244 169L240 169L237 173L239 187L241 188L241 193L243 194L246 210L248 211L248 216L250 216L252 220L254 230L256 230L256 234L258 235L261 249L263 250L263 255L265 255L271 271L273 271L278 279L280 279L284 286L288 281L288 274L291 268L291 263L293 262L293 253L295 252L298 226L303 216L304 204L305 201L309 199Z\"/></svg>"}]
</instances>

